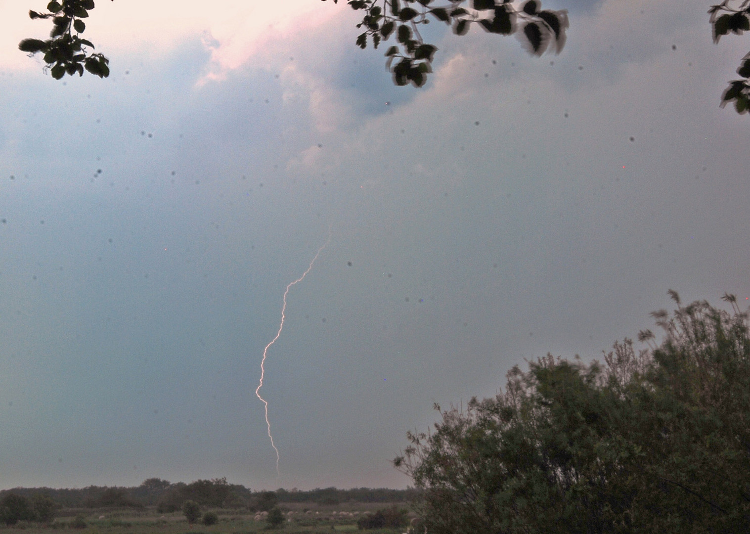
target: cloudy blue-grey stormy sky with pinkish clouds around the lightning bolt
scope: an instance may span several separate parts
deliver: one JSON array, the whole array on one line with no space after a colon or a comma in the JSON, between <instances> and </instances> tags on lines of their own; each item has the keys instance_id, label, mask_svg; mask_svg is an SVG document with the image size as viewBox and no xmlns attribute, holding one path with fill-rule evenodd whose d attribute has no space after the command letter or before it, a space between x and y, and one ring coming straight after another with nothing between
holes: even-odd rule
<instances>
[{"instance_id":1,"label":"cloudy blue-grey stormy sky with pinkish clouds around the lightning bolt","mask_svg":"<svg viewBox=\"0 0 750 534\"><path fill-rule=\"evenodd\" d=\"M407 487L434 403L601 359L670 289L745 303L750 40L544 6L559 55L434 25L416 89L344 1L98 1L112 74L57 81L17 50L43 5L0 0L0 487ZM266 359L277 474L260 362L321 247Z\"/></svg>"}]
</instances>

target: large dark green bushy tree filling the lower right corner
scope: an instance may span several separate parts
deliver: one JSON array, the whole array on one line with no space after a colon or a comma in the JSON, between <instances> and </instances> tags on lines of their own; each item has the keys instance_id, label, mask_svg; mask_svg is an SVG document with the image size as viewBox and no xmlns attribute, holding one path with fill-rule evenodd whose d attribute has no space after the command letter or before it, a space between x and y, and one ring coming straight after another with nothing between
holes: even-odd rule
<instances>
[{"instance_id":1,"label":"large dark green bushy tree filling the lower right corner","mask_svg":"<svg viewBox=\"0 0 750 534\"><path fill-rule=\"evenodd\" d=\"M427 532L747 532L748 316L670 294L660 345L645 331L650 350L625 340L604 365L513 368L505 392L410 434L395 464Z\"/></svg>"}]
</instances>

